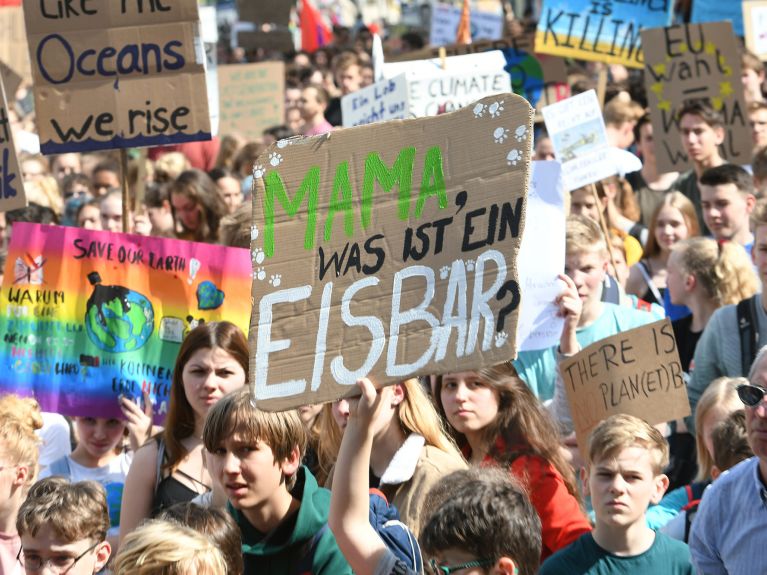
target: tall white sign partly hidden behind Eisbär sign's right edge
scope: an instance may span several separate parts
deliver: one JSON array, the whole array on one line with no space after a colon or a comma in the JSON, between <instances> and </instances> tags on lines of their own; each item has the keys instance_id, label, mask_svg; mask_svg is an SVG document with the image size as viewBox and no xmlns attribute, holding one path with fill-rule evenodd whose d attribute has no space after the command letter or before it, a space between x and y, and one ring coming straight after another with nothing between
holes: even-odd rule
<instances>
[{"instance_id":1,"label":"tall white sign partly hidden behind Eisb\u00e4r sign's right edge","mask_svg":"<svg viewBox=\"0 0 767 575\"><path fill-rule=\"evenodd\" d=\"M519 250L519 284L524 294L517 330L520 351L558 345L564 322L554 304L563 285L557 276L565 269L562 168L559 162L532 162L531 174L526 217L546 225L527 226Z\"/></svg>"}]
</instances>

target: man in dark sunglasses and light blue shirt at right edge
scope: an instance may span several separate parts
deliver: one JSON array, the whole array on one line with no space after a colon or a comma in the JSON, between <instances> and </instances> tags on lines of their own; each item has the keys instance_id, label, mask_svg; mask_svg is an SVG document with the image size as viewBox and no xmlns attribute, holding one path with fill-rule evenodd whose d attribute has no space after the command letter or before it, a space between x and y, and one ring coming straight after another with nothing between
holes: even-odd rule
<instances>
[{"instance_id":1,"label":"man in dark sunglasses and light blue shirt at right edge","mask_svg":"<svg viewBox=\"0 0 767 575\"><path fill-rule=\"evenodd\" d=\"M699 573L764 573L767 526L767 347L738 386L755 457L722 474L705 493L692 522L690 551Z\"/></svg>"}]
</instances>

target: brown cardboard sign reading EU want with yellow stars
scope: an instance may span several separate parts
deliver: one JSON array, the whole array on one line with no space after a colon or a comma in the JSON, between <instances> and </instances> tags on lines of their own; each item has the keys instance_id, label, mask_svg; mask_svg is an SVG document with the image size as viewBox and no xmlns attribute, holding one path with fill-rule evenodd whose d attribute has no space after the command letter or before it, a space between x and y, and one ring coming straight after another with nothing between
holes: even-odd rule
<instances>
[{"instance_id":1,"label":"brown cardboard sign reading EU want with yellow stars","mask_svg":"<svg viewBox=\"0 0 767 575\"><path fill-rule=\"evenodd\" d=\"M729 22L643 30L645 86L660 172L692 168L677 111L687 99L708 98L724 117L719 153L733 164L751 161L751 130L740 80L737 40Z\"/></svg>"}]
</instances>

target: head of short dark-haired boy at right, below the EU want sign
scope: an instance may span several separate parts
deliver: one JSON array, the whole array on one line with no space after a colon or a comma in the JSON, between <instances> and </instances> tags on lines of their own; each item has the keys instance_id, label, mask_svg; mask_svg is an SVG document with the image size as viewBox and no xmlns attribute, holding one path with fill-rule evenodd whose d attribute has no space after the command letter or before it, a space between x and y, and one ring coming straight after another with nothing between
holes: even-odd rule
<instances>
[{"instance_id":1,"label":"head of short dark-haired boy at right, below the EU want sign","mask_svg":"<svg viewBox=\"0 0 767 575\"><path fill-rule=\"evenodd\" d=\"M738 243L750 254L749 218L756 205L752 177L740 166L722 164L705 170L699 184L703 220L714 239Z\"/></svg>"}]
</instances>

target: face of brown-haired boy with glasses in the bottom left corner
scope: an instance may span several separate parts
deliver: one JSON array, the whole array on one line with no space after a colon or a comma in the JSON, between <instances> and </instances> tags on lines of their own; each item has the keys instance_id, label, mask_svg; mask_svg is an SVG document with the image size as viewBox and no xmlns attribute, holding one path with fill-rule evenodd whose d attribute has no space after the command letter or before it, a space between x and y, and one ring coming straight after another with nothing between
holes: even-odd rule
<instances>
[{"instance_id":1,"label":"face of brown-haired boy with glasses in the bottom left corner","mask_svg":"<svg viewBox=\"0 0 767 575\"><path fill-rule=\"evenodd\" d=\"M23 556L39 557L44 563L43 569L38 571L26 570L30 575L46 572L93 575L106 565L111 553L111 547L106 541L97 545L90 539L65 541L50 525L43 525L35 536L30 533L22 535L21 548Z\"/></svg>"}]
</instances>

